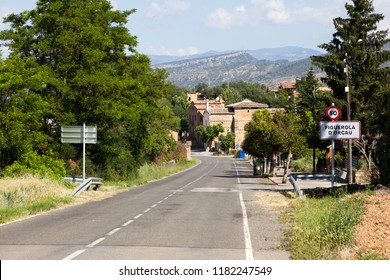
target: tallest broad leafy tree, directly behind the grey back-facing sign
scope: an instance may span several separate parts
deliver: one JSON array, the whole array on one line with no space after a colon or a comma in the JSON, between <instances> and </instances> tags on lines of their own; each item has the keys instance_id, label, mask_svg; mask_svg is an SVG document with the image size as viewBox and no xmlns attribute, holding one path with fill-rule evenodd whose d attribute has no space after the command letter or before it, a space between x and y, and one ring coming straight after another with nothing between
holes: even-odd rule
<instances>
[{"instance_id":1,"label":"tallest broad leafy tree, directly behind the grey back-facing sign","mask_svg":"<svg viewBox=\"0 0 390 280\"><path fill-rule=\"evenodd\" d=\"M150 155L156 119L170 115L159 104L167 72L151 68L126 28L134 12L114 11L107 0L39 0L7 16L11 27L0 33L11 55L48 69L34 93L51 105L43 116L49 137L57 140L62 125L97 125L98 144L88 150L101 176L134 172Z\"/></svg>"}]
</instances>

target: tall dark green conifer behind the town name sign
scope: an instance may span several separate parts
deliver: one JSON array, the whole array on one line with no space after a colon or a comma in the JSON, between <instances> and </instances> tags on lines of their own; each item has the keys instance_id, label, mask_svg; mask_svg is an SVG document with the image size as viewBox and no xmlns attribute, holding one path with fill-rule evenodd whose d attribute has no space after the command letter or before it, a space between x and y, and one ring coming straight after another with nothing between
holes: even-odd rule
<instances>
[{"instance_id":1,"label":"tall dark green conifer behind the town name sign","mask_svg":"<svg viewBox=\"0 0 390 280\"><path fill-rule=\"evenodd\" d=\"M345 8L348 17L333 20L336 32L332 41L320 45L327 53L312 60L325 70L344 116L348 82L351 119L361 121L362 134L369 142L377 141L388 111L384 107L388 90L384 88L389 84L390 72L388 67L382 67L390 59L390 52L383 50L389 42L388 30L377 30L384 16L375 13L371 0L353 0Z\"/></svg>"}]
</instances>

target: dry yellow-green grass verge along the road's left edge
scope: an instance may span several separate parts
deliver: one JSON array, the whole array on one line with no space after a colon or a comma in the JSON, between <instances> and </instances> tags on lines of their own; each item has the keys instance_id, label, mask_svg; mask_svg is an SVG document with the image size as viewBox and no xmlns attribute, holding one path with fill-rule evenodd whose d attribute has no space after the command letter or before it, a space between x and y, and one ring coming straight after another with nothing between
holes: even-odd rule
<instances>
[{"instance_id":1,"label":"dry yellow-green grass verge along the road's left edge","mask_svg":"<svg viewBox=\"0 0 390 280\"><path fill-rule=\"evenodd\" d=\"M197 163L196 160L174 165L145 165L134 178L120 182L105 182L94 195L84 192L77 198L70 196L74 186L64 181L26 175L18 178L0 179L0 224L35 215L75 202L86 202L105 195L113 195L118 190L142 185L147 182L178 173ZM88 192L89 193L89 192ZM92 193L92 192L91 192ZM102 196L99 196L99 193Z\"/></svg>"}]
</instances>

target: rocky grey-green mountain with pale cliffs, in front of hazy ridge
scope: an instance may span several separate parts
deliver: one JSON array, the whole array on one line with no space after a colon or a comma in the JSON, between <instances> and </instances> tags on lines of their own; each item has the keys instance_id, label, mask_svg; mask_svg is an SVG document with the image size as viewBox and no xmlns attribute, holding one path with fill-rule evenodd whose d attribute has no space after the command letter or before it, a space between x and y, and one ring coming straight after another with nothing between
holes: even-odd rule
<instances>
[{"instance_id":1,"label":"rocky grey-green mountain with pale cliffs, in front of hazy ridge","mask_svg":"<svg viewBox=\"0 0 390 280\"><path fill-rule=\"evenodd\" d=\"M192 58L155 65L166 69L169 80L178 87L193 88L199 83L210 86L228 81L261 83L268 86L294 81L312 67L310 58L301 60L258 60L246 51ZM314 67L316 73L320 70Z\"/></svg>"}]
</instances>

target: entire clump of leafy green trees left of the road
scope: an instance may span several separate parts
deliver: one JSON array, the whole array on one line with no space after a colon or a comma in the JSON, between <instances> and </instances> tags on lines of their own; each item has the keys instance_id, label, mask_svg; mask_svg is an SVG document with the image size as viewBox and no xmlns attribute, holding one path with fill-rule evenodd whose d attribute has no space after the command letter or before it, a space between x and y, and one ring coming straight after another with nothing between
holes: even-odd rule
<instances>
[{"instance_id":1,"label":"entire clump of leafy green trees left of the road","mask_svg":"<svg viewBox=\"0 0 390 280\"><path fill-rule=\"evenodd\" d=\"M5 18L0 32L11 54L0 65L0 168L23 154L65 151L63 125L96 125L88 145L100 176L133 173L170 145L179 128L166 98L167 72L152 69L126 28L135 10L114 11L107 0L39 0L33 10Z\"/></svg>"}]
</instances>

